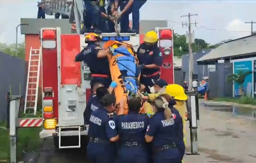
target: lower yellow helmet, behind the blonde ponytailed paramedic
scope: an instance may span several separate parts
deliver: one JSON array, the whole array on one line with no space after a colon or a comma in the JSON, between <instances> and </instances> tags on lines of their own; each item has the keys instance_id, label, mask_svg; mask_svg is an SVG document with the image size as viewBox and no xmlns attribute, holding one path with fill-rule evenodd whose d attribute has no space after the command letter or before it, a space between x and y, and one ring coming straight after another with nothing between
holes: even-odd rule
<instances>
[{"instance_id":1,"label":"lower yellow helmet, behind the blonde ponytailed paramedic","mask_svg":"<svg viewBox=\"0 0 256 163\"><path fill-rule=\"evenodd\" d=\"M172 96L175 100L186 101L188 99L188 96L185 94L184 88L179 84L167 85L164 93Z\"/></svg>"}]
</instances>

